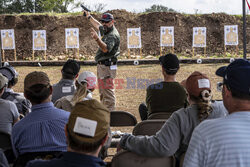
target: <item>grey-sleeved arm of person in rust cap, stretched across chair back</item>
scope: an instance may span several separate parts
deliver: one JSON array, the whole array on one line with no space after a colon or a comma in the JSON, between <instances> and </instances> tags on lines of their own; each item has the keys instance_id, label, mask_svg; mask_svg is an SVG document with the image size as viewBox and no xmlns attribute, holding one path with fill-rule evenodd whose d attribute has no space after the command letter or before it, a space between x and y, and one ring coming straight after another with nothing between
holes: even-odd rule
<instances>
[{"instance_id":1,"label":"grey-sleeved arm of person in rust cap, stretched across chair back","mask_svg":"<svg viewBox=\"0 0 250 167\"><path fill-rule=\"evenodd\" d=\"M150 157L173 155L181 143L181 122L177 117L173 113L155 136L124 135L120 141L121 148Z\"/></svg>"}]
</instances>

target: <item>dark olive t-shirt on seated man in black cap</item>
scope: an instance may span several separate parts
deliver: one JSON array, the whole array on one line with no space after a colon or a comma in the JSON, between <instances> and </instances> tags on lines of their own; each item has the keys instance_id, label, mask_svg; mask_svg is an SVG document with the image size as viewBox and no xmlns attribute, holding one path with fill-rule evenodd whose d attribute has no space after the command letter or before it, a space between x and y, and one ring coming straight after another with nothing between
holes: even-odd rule
<instances>
[{"instance_id":1,"label":"dark olive t-shirt on seated man in black cap","mask_svg":"<svg viewBox=\"0 0 250 167\"><path fill-rule=\"evenodd\" d=\"M148 115L156 112L174 112L187 105L187 94L178 82L159 82L147 88Z\"/></svg>"}]
</instances>

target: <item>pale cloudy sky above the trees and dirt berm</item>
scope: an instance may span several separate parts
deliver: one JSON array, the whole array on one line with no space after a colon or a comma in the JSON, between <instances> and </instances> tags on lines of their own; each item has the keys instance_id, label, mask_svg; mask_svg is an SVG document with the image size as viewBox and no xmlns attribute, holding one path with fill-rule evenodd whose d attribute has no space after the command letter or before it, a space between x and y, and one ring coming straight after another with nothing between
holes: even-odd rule
<instances>
[{"instance_id":1,"label":"pale cloudy sky above the trees and dirt berm","mask_svg":"<svg viewBox=\"0 0 250 167\"><path fill-rule=\"evenodd\" d=\"M242 0L84 0L83 2L89 6L103 3L107 5L106 10L126 9L130 12L143 12L144 9L157 4L187 14L195 12L198 14L213 12L242 14Z\"/></svg>"}]
</instances>

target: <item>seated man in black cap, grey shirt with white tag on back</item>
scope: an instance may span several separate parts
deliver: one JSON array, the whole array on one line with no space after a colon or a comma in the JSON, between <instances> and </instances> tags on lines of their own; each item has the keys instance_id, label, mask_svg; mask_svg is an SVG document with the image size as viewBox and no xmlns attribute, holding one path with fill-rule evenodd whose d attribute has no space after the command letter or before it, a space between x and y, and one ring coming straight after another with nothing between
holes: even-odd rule
<instances>
[{"instance_id":1,"label":"seated man in black cap, grey shirt with white tag on back","mask_svg":"<svg viewBox=\"0 0 250 167\"><path fill-rule=\"evenodd\" d=\"M76 60L69 59L61 70L62 79L53 85L52 102L55 103L63 96L73 95L75 88L75 79L78 77L80 64Z\"/></svg>"}]
</instances>

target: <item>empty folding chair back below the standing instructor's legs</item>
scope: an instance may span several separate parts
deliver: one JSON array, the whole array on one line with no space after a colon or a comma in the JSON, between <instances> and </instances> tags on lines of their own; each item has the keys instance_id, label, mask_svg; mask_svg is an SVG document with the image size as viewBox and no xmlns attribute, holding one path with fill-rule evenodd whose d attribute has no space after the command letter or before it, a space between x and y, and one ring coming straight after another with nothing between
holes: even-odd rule
<instances>
[{"instance_id":1,"label":"empty folding chair back below the standing instructor's legs","mask_svg":"<svg viewBox=\"0 0 250 167\"><path fill-rule=\"evenodd\" d=\"M111 111L110 126L135 126L137 120L134 115L126 111Z\"/></svg>"}]
</instances>

